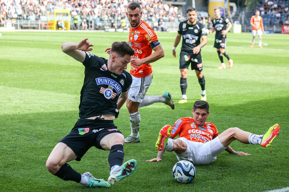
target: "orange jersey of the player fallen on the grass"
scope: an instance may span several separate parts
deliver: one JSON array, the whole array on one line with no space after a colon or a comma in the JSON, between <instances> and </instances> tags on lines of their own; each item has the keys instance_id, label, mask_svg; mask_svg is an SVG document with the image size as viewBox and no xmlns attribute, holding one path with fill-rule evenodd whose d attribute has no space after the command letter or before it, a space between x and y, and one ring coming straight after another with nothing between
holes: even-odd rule
<instances>
[{"instance_id":1,"label":"orange jersey of the player fallen on the grass","mask_svg":"<svg viewBox=\"0 0 289 192\"><path fill-rule=\"evenodd\" d=\"M184 137L190 141L206 143L216 138L219 132L213 123L199 126L192 117L183 117L176 121L172 127L171 136Z\"/></svg>"}]
</instances>

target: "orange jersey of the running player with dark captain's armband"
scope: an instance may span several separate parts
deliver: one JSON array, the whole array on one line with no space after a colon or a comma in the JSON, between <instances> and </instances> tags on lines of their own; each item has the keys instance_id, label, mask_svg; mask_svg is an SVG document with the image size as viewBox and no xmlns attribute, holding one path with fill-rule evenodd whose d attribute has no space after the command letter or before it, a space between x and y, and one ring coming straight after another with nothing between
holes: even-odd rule
<instances>
[{"instance_id":1,"label":"orange jersey of the running player with dark captain's armband","mask_svg":"<svg viewBox=\"0 0 289 192\"><path fill-rule=\"evenodd\" d=\"M135 51L131 58L142 59L150 56L152 49L160 45L160 42L155 31L146 22L141 21L137 27L129 27L129 44ZM145 77L151 73L152 66L149 63L139 67L131 65L130 74L134 77Z\"/></svg>"}]
</instances>

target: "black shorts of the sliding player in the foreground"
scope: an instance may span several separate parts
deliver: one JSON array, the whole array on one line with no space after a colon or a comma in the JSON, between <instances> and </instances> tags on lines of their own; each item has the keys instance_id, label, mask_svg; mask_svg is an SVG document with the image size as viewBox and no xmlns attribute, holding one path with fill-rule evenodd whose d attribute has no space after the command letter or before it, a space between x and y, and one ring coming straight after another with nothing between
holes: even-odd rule
<instances>
[{"instance_id":1,"label":"black shorts of the sliding player in the foreground","mask_svg":"<svg viewBox=\"0 0 289 192\"><path fill-rule=\"evenodd\" d=\"M100 141L104 136L111 133L121 133L117 130L113 121L79 118L70 133L59 142L70 147L77 155L76 161L80 161L90 147L103 149L100 146Z\"/></svg>"}]
</instances>

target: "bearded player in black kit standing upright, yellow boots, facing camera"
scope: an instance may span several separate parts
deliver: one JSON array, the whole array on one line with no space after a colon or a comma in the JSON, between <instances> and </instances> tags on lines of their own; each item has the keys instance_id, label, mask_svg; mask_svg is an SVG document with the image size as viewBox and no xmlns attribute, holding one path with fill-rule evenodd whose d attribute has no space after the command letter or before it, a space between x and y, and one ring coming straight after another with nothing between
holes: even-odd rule
<instances>
[{"instance_id":1,"label":"bearded player in black kit standing upright, yellow boots, facing camera","mask_svg":"<svg viewBox=\"0 0 289 192\"><path fill-rule=\"evenodd\" d=\"M201 48L207 43L206 28L200 22L197 22L197 10L190 7L187 9L188 20L180 22L178 35L176 36L173 55L176 57L176 46L178 46L181 37L183 37L182 47L180 52L180 71L181 71L181 91L182 100L179 103L187 102L187 76L189 65L191 63L192 70L195 69L196 75L201 85L201 100L207 100L207 94L205 90L205 77L203 76L203 59L201 56ZM200 43L200 38L202 42Z\"/></svg>"}]
</instances>

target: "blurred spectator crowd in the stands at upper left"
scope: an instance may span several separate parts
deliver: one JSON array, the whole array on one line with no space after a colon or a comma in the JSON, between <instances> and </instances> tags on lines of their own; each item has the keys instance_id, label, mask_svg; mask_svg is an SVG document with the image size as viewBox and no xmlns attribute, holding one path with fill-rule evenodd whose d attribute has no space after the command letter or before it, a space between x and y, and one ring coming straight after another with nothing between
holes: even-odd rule
<instances>
[{"instance_id":1,"label":"blurred spectator crowd in the stands at upper left","mask_svg":"<svg viewBox=\"0 0 289 192\"><path fill-rule=\"evenodd\" d=\"M4 19L39 20L42 15L52 9L67 9L72 16L96 21L112 21L126 18L126 9L132 0L0 0ZM143 11L145 21L163 19L164 22L181 22L185 18L179 8L163 4L162 0L138 1Z\"/></svg>"}]
</instances>

